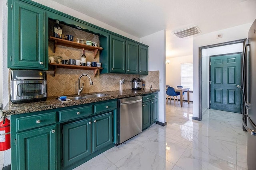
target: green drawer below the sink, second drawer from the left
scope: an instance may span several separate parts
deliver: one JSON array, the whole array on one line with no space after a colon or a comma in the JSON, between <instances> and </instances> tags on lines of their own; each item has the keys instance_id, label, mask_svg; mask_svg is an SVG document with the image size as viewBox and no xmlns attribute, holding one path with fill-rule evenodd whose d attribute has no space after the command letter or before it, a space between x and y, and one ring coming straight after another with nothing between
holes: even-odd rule
<instances>
[{"instance_id":1,"label":"green drawer below the sink, second drawer from the left","mask_svg":"<svg viewBox=\"0 0 256 170\"><path fill-rule=\"evenodd\" d=\"M59 111L59 121L66 121L83 116L92 115L92 106L77 107L74 109L67 109Z\"/></svg>"}]
</instances>

